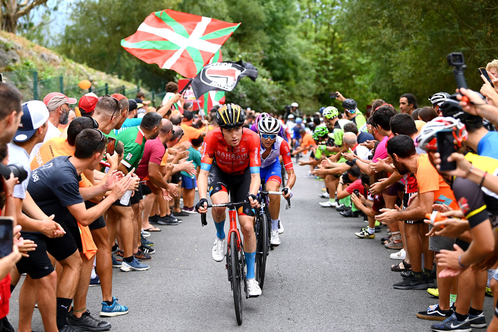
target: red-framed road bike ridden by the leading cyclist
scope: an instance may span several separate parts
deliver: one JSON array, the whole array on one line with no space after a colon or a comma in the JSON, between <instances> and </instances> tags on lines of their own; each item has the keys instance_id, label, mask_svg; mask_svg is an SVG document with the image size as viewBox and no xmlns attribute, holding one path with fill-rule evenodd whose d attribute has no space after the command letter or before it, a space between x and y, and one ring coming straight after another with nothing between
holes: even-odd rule
<instances>
[{"instance_id":1,"label":"red-framed road bike ridden by the leading cyclist","mask_svg":"<svg viewBox=\"0 0 498 332\"><path fill-rule=\"evenodd\" d=\"M248 289L246 282L246 258L244 256L244 248L242 246L241 234L237 228L237 212L236 208L248 202L225 203L225 204L208 204L208 208L220 207L229 208L228 216L230 219L230 230L228 231L227 243L227 263L225 265L228 270L228 281L231 283L232 291L234 292L234 305L237 323L242 324L242 291L246 293L248 298ZM207 225L206 214L201 214L201 223Z\"/></svg>"}]
</instances>

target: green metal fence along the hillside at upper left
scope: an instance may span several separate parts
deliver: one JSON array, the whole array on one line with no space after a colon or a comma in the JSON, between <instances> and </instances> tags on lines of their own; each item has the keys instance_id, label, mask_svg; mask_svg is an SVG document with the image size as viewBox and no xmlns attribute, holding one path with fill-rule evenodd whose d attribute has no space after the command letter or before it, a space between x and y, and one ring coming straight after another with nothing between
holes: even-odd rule
<instances>
[{"instance_id":1,"label":"green metal fence along the hillside at upper left","mask_svg":"<svg viewBox=\"0 0 498 332\"><path fill-rule=\"evenodd\" d=\"M13 84L19 89L24 100L41 100L50 92L61 92L71 97L79 97L87 92L86 90L82 90L78 85L66 86L63 76L39 80L38 72L35 70L11 71L2 74L5 82ZM103 87L90 88L88 90L88 92L93 92L97 96L122 94L128 99L134 99L139 91L140 87L138 85L134 89L126 89L124 85L110 87L107 83ZM152 91L144 94L145 100L150 100L152 106L160 106L166 92L156 93Z\"/></svg>"}]
</instances>

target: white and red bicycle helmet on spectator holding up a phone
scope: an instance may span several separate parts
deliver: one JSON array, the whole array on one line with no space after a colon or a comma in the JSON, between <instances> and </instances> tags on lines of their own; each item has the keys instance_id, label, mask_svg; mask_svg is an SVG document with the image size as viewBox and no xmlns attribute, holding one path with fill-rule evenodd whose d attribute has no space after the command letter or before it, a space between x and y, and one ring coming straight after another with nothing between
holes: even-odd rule
<instances>
[{"instance_id":1,"label":"white and red bicycle helmet on spectator holding up a phone","mask_svg":"<svg viewBox=\"0 0 498 332\"><path fill-rule=\"evenodd\" d=\"M422 127L415 139L416 146L426 151L437 151L437 133L440 131L452 131L453 143L457 147L461 147L463 141L468 137L465 124L462 121L449 116L438 116Z\"/></svg>"}]
</instances>

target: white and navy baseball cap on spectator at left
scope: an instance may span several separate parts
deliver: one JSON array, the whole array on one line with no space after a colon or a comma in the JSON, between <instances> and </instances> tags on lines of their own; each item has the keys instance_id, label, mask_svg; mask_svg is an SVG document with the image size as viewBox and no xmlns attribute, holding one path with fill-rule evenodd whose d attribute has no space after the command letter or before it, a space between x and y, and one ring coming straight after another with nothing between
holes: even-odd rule
<instances>
[{"instance_id":1,"label":"white and navy baseball cap on spectator at left","mask_svg":"<svg viewBox=\"0 0 498 332\"><path fill-rule=\"evenodd\" d=\"M47 122L49 115L43 102L32 100L22 104L21 122L12 140L14 142L27 141L43 123Z\"/></svg>"}]
</instances>

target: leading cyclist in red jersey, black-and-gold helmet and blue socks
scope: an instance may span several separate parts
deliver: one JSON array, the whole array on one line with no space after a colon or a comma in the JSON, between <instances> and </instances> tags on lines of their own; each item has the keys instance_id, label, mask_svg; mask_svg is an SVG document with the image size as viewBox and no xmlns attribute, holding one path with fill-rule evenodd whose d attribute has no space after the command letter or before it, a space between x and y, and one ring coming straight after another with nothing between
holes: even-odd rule
<instances>
[{"instance_id":1,"label":"leading cyclist in red jersey, black-and-gold helmet and blue socks","mask_svg":"<svg viewBox=\"0 0 498 332\"><path fill-rule=\"evenodd\" d=\"M259 206L257 192L261 184L259 178L259 136L242 125L246 114L239 105L225 104L216 112L216 122L220 128L210 131L204 139L201 158L201 171L197 179L199 203L196 210L207 212L206 193L213 204L228 203L229 192L236 202L248 202L237 209L239 223L244 235L244 255L247 265L247 288L249 297L261 295L261 289L254 279L256 257L256 237L254 234L254 210ZM221 262L225 256L226 208L213 208L216 238L213 244L213 259Z\"/></svg>"}]
</instances>

